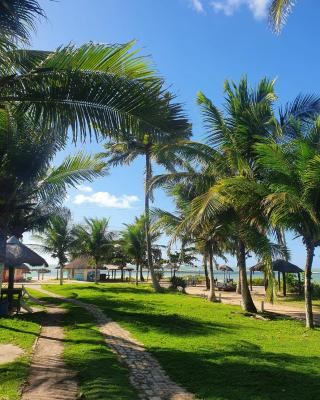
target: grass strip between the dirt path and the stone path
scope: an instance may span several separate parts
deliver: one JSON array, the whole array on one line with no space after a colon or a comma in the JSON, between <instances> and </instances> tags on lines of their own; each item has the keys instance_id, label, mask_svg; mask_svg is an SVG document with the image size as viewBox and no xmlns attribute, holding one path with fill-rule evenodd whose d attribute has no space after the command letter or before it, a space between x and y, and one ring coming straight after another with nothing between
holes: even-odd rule
<instances>
[{"instance_id":1,"label":"grass strip between the dirt path and the stone path","mask_svg":"<svg viewBox=\"0 0 320 400\"><path fill-rule=\"evenodd\" d=\"M48 298L41 292L29 290L32 296L67 309L62 324L65 330L64 360L77 371L79 394L86 400L134 400L137 394L129 382L127 369L122 366L95 326L90 313L76 305Z\"/></svg>"}]
</instances>

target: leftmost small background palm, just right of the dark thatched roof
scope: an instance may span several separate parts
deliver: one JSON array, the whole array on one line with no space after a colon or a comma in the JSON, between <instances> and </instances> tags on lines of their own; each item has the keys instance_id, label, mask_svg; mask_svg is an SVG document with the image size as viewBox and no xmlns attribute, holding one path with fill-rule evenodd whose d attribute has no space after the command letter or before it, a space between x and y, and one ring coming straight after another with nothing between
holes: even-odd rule
<instances>
[{"instance_id":1,"label":"leftmost small background palm, just right of the dark thatched roof","mask_svg":"<svg viewBox=\"0 0 320 400\"><path fill-rule=\"evenodd\" d=\"M68 254L74 244L73 226L71 224L71 213L63 209L59 214L53 215L46 226L35 238L42 243L42 249L57 258L60 268L60 285L63 284L63 268L68 261Z\"/></svg>"}]
</instances>

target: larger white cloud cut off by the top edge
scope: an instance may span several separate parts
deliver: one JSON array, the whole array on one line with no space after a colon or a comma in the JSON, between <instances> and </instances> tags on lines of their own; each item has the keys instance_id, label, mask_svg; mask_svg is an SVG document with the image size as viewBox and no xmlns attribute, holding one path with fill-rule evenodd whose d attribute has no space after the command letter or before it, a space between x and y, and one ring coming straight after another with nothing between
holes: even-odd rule
<instances>
[{"instance_id":1,"label":"larger white cloud cut off by the top edge","mask_svg":"<svg viewBox=\"0 0 320 400\"><path fill-rule=\"evenodd\" d=\"M256 19L265 18L270 0L221 0L212 1L211 5L216 12L223 12L227 16L233 15L241 6L247 6Z\"/></svg>"}]
</instances>

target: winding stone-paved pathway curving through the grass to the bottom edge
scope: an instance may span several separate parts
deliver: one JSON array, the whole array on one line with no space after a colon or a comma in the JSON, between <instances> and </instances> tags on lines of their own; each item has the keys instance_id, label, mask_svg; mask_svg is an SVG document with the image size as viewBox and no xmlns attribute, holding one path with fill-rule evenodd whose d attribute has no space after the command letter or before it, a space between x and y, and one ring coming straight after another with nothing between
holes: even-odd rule
<instances>
[{"instance_id":1,"label":"winding stone-paved pathway curving through the grass to the bottom edge","mask_svg":"<svg viewBox=\"0 0 320 400\"><path fill-rule=\"evenodd\" d=\"M193 400L194 396L186 392L166 375L142 343L132 338L130 333L119 324L107 318L99 307L75 299L68 299L55 293L34 287L34 289L51 297L69 301L85 308L94 315L106 344L118 355L130 370L130 381L137 389L139 398L143 400ZM29 398L23 398L26 400ZM35 399L35 398L32 398ZM69 399L60 397L60 399ZM31 398L30 398L31 400Z\"/></svg>"}]
</instances>

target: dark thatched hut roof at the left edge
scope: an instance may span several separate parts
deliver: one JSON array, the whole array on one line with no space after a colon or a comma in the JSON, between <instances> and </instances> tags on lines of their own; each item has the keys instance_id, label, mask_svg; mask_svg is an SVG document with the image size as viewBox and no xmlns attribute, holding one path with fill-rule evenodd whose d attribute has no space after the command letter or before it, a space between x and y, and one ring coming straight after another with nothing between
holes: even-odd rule
<instances>
[{"instance_id":1,"label":"dark thatched hut roof at the left edge","mask_svg":"<svg viewBox=\"0 0 320 400\"><path fill-rule=\"evenodd\" d=\"M23 263L38 267L48 266L46 260L21 243L15 236L11 236L6 244L6 265L9 267L19 267Z\"/></svg>"}]
</instances>

